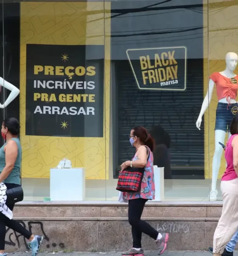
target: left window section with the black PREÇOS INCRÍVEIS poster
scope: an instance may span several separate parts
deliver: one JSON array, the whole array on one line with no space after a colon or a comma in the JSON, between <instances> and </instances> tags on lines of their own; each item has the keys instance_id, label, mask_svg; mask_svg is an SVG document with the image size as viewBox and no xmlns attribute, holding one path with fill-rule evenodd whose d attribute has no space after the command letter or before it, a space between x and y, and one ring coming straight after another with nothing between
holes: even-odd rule
<instances>
[{"instance_id":1,"label":"left window section with the black PRE\u00c7OS INCR\u00cdVEIS poster","mask_svg":"<svg viewBox=\"0 0 238 256\"><path fill-rule=\"evenodd\" d=\"M11 63L3 64L1 76L20 88L20 103L12 102L4 114L20 119L24 200L65 200L59 192L66 182L74 189L67 200L105 201L110 122L105 6L2 5L2 49Z\"/></svg>"}]
</instances>

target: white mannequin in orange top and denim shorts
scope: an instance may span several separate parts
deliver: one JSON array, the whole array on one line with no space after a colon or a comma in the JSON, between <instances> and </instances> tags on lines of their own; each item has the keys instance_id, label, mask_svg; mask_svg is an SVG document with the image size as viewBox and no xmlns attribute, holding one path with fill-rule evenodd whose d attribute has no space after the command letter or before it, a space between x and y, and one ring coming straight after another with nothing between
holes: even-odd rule
<instances>
[{"instance_id":1,"label":"white mannequin in orange top and denim shorts","mask_svg":"<svg viewBox=\"0 0 238 256\"><path fill-rule=\"evenodd\" d=\"M202 116L210 104L213 88L216 84L218 106L216 110L215 151L212 160L212 187L209 195L210 201L216 201L218 194L218 191L216 190L216 182L221 165L221 155L223 153L223 148L219 142L224 144L227 132L228 138L230 137L229 125L236 111L238 111L238 103L236 101L238 76L234 73L237 61L238 55L235 52L228 52L226 55L226 69L219 73L212 73L208 84L207 94L202 103L201 111L196 122L196 127L200 130Z\"/></svg>"}]
</instances>

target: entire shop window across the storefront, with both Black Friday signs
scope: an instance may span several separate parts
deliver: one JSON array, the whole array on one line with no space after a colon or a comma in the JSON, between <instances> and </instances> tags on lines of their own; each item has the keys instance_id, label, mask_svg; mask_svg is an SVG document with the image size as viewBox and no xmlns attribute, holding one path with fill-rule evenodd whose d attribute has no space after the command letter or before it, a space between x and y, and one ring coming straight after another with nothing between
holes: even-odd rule
<instances>
[{"instance_id":1,"label":"entire shop window across the storefront, with both Black Friday signs","mask_svg":"<svg viewBox=\"0 0 238 256\"><path fill-rule=\"evenodd\" d=\"M24 200L54 201L57 183L67 181L76 189L69 200L117 201L120 164L133 154L128 140L137 125L155 138L162 200L221 200L226 163L218 141L225 144L228 133L214 131L217 85L206 93L212 74L226 70L226 54L236 54L234 1L1 8L0 76L20 95L0 116L20 119ZM11 90L1 85L3 104Z\"/></svg>"}]
</instances>

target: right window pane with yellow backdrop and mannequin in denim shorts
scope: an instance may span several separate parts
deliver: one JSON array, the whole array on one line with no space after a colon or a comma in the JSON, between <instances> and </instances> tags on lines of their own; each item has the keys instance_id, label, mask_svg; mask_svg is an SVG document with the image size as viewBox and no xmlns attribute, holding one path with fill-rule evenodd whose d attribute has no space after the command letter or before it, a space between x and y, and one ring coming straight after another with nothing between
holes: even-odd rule
<instances>
[{"instance_id":1,"label":"right window pane with yellow backdrop and mannequin in denim shorts","mask_svg":"<svg viewBox=\"0 0 238 256\"><path fill-rule=\"evenodd\" d=\"M237 113L237 27L235 1L208 1L208 23L205 44L208 61L205 63L204 90L210 87L211 101L204 117L206 172L210 170L212 197L221 200L220 182L226 168L224 151L219 145L229 138L229 124ZM229 84L233 94L226 94L222 85ZM228 96L228 97L227 97ZM229 105L229 102L231 103ZM221 122L224 121L224 122ZM214 131L215 129L215 131ZM208 173L208 172L207 172ZM215 196L216 195L216 196Z\"/></svg>"}]
</instances>

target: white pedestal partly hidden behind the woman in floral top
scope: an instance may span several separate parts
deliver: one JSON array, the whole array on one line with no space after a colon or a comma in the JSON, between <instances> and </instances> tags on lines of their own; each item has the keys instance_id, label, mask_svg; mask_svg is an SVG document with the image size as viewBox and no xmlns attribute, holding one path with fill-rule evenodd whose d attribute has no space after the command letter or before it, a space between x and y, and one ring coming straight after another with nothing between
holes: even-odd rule
<instances>
[{"instance_id":1,"label":"white pedestal partly hidden behind the woman in floral top","mask_svg":"<svg viewBox=\"0 0 238 256\"><path fill-rule=\"evenodd\" d=\"M155 177L155 200L164 200L164 167L154 166L154 177Z\"/></svg>"}]
</instances>

